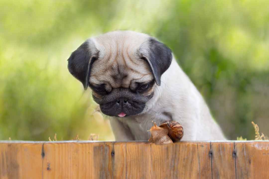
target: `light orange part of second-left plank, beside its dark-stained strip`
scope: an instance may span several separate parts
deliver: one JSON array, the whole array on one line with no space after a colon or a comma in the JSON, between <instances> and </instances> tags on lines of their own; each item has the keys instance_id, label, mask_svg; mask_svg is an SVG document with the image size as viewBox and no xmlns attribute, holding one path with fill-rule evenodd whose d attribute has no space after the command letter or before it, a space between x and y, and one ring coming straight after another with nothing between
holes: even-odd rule
<instances>
[{"instance_id":1,"label":"light orange part of second-left plank, beside its dark-stained strip","mask_svg":"<svg viewBox=\"0 0 269 179\"><path fill-rule=\"evenodd\" d=\"M92 144L45 143L43 178L93 177L92 151Z\"/></svg>"}]
</instances>

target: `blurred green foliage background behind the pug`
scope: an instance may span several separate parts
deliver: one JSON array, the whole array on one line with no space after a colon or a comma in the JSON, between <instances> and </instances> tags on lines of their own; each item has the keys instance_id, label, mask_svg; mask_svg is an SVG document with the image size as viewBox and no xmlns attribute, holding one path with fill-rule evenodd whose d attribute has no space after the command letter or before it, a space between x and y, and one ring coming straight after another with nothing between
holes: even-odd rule
<instances>
[{"instance_id":1,"label":"blurred green foliage background behind the pug","mask_svg":"<svg viewBox=\"0 0 269 179\"><path fill-rule=\"evenodd\" d=\"M269 129L269 1L0 1L0 139L113 140L90 90L67 70L87 38L112 30L167 44L229 139Z\"/></svg>"}]
</instances>

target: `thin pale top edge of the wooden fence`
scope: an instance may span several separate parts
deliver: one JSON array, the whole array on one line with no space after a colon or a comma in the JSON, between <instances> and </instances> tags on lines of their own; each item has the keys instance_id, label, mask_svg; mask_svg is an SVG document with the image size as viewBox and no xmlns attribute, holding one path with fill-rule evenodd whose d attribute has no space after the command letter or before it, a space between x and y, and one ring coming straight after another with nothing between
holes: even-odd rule
<instances>
[{"instance_id":1,"label":"thin pale top edge of the wooden fence","mask_svg":"<svg viewBox=\"0 0 269 179\"><path fill-rule=\"evenodd\" d=\"M269 140L250 140L250 141L181 141L179 143L252 143L252 142L269 142ZM0 140L1 143L21 143L21 144L36 144L36 143L149 143L148 141L12 141L12 140Z\"/></svg>"}]
</instances>

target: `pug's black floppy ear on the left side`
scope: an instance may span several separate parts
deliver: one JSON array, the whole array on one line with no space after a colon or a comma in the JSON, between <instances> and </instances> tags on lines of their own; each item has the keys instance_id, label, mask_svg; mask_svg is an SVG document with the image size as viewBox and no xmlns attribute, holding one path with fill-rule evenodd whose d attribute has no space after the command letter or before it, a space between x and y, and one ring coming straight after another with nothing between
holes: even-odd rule
<instances>
[{"instance_id":1,"label":"pug's black floppy ear on the left side","mask_svg":"<svg viewBox=\"0 0 269 179\"><path fill-rule=\"evenodd\" d=\"M98 58L98 50L91 40L85 41L68 59L68 70L77 78L87 90L91 73L91 66Z\"/></svg>"}]
</instances>

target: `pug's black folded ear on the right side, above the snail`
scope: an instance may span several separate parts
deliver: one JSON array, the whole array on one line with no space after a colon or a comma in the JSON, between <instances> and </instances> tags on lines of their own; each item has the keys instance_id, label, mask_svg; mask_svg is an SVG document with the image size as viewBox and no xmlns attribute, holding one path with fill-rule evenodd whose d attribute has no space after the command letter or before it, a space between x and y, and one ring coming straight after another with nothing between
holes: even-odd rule
<instances>
[{"instance_id":1,"label":"pug's black folded ear on the right side, above the snail","mask_svg":"<svg viewBox=\"0 0 269 179\"><path fill-rule=\"evenodd\" d=\"M172 62L172 51L165 44L150 37L138 49L141 59L148 62L156 84L161 85L161 76Z\"/></svg>"}]
</instances>

